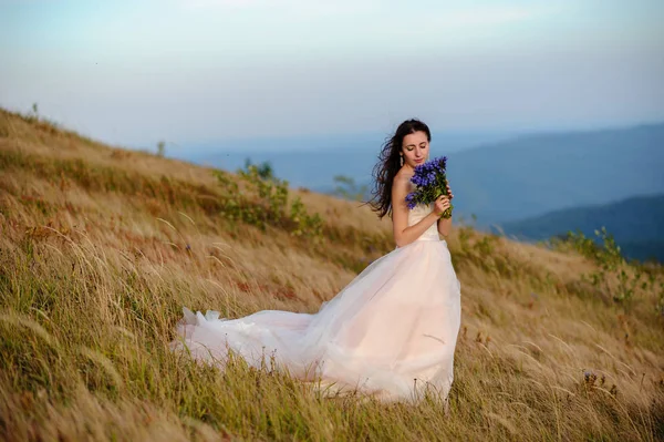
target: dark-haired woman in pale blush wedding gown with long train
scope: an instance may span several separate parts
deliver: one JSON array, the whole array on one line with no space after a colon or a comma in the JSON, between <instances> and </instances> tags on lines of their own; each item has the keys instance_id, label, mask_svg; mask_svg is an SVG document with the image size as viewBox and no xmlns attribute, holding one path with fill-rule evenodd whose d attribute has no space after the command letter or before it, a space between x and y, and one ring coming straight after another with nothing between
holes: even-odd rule
<instances>
[{"instance_id":1,"label":"dark-haired woman in pale blush wedding gown with long train","mask_svg":"<svg viewBox=\"0 0 664 442\"><path fill-rule=\"evenodd\" d=\"M403 122L374 167L372 208L393 222L396 248L376 259L317 313L264 310L239 319L204 316L186 307L172 348L224 366L229 350L247 363L277 367L336 394L357 391L383 401L446 400L453 382L460 325L460 284L440 218L453 197L408 209L414 167L428 157L430 132L417 120ZM185 350L186 349L186 350Z\"/></svg>"}]
</instances>

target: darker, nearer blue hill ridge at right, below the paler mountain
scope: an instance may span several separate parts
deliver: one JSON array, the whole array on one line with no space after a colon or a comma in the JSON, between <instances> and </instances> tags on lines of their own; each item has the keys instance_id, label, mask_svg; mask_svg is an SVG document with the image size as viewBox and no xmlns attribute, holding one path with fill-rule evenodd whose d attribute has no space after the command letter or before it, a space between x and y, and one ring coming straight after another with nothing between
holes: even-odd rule
<instances>
[{"instance_id":1,"label":"darker, nearer blue hill ridge at right, below the paler mountain","mask_svg":"<svg viewBox=\"0 0 664 442\"><path fill-rule=\"evenodd\" d=\"M594 238L594 230L602 226L614 236L625 256L664 263L664 195L556 210L501 227L507 235L539 240L578 229Z\"/></svg>"}]
</instances>

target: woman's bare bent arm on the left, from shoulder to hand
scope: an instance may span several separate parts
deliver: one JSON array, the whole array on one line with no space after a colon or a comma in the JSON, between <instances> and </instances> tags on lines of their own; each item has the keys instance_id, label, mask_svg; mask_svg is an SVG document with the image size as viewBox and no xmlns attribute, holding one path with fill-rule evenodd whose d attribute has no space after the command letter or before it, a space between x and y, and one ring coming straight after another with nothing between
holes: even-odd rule
<instances>
[{"instance_id":1,"label":"woman's bare bent arm on the left, from shoulder to hand","mask_svg":"<svg viewBox=\"0 0 664 442\"><path fill-rule=\"evenodd\" d=\"M419 238L437 219L440 214L432 212L419 223L408 227L408 178L395 177L392 185L392 229L397 247L404 247Z\"/></svg>"}]
</instances>

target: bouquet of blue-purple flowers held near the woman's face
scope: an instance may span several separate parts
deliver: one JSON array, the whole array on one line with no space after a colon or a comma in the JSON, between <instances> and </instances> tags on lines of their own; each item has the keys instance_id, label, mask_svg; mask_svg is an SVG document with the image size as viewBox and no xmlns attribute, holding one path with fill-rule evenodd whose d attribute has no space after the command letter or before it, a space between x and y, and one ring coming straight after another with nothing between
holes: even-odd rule
<instances>
[{"instance_id":1,"label":"bouquet of blue-purple flowers held near the woman's face","mask_svg":"<svg viewBox=\"0 0 664 442\"><path fill-rule=\"evenodd\" d=\"M446 165L447 157L443 156L415 166L415 175L413 175L411 182L415 184L416 188L414 192L406 195L408 208L413 209L418 204L428 206L435 202L438 196L447 195L447 176L445 175ZM450 204L449 208L443 212L440 217L449 218L453 208L454 206Z\"/></svg>"}]
</instances>

